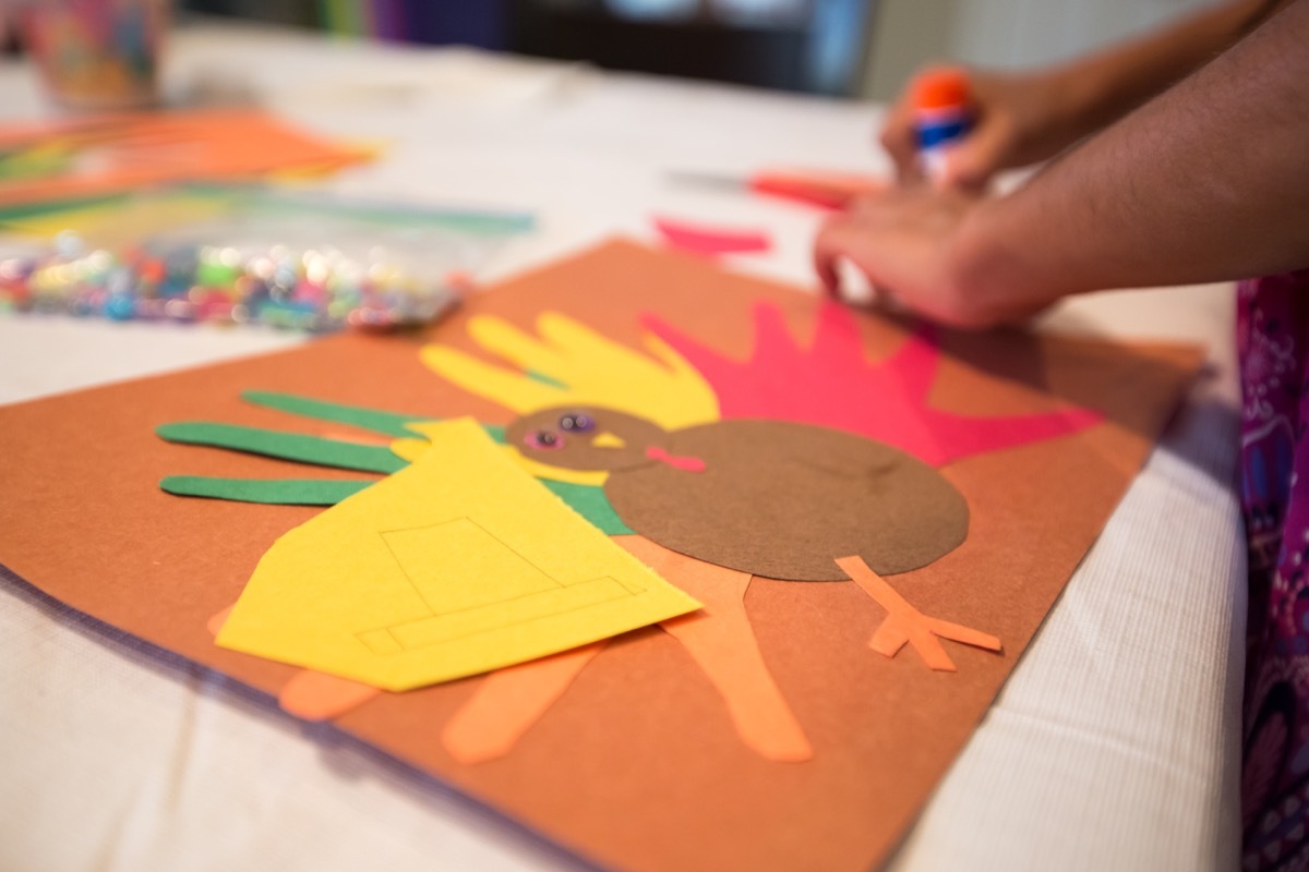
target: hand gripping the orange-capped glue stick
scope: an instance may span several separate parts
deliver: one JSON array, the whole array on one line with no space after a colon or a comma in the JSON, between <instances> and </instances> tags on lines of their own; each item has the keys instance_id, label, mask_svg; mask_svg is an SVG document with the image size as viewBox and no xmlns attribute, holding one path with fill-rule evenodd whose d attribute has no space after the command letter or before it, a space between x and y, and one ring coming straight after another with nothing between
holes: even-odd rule
<instances>
[{"instance_id":1,"label":"hand gripping the orange-capped glue stick","mask_svg":"<svg viewBox=\"0 0 1309 872\"><path fill-rule=\"evenodd\" d=\"M969 86L973 129L950 149L941 179L944 187L984 190L997 171L1054 157L1077 139L1076 88L1063 75L970 71ZM881 132L882 146L902 182L922 176L912 90L912 86L905 89Z\"/></svg>"}]
</instances>

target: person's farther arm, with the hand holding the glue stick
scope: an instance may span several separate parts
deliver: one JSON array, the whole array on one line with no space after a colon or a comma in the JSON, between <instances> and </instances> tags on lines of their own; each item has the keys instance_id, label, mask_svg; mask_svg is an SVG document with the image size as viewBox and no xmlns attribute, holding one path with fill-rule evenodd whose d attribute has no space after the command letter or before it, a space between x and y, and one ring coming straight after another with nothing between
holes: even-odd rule
<instances>
[{"instance_id":1,"label":"person's farther arm, with the hand holding the glue stick","mask_svg":"<svg viewBox=\"0 0 1309 872\"><path fill-rule=\"evenodd\" d=\"M1233 0L1072 63L1029 73L969 75L974 129L950 154L948 186L982 188L999 170L1035 163L1113 123L1221 54L1285 0ZM902 95L882 145L912 179L914 106Z\"/></svg>"}]
</instances>

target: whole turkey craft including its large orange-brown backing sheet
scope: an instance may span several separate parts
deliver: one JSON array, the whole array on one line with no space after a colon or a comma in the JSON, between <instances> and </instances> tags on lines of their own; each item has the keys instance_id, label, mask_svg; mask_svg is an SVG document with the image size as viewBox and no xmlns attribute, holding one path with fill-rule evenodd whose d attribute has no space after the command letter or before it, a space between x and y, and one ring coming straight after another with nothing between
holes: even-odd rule
<instances>
[{"instance_id":1,"label":"whole turkey craft including its large orange-brown backing sheet","mask_svg":"<svg viewBox=\"0 0 1309 872\"><path fill-rule=\"evenodd\" d=\"M865 869L1199 360L932 333L614 242L425 335L0 408L0 562L505 838Z\"/></svg>"}]
</instances>

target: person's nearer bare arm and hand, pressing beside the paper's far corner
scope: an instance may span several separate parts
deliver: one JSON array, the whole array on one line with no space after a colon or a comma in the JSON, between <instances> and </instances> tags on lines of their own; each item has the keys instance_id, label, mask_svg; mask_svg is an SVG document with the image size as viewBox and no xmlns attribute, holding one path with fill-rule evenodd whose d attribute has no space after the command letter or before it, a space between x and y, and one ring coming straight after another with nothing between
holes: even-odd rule
<instances>
[{"instance_id":1,"label":"person's nearer bare arm and hand, pressing beside the paper's far corner","mask_svg":"<svg viewBox=\"0 0 1309 872\"><path fill-rule=\"evenodd\" d=\"M816 265L850 259L939 320L987 327L1055 299L1309 265L1309 0L1014 193L899 188L830 220Z\"/></svg>"}]
</instances>

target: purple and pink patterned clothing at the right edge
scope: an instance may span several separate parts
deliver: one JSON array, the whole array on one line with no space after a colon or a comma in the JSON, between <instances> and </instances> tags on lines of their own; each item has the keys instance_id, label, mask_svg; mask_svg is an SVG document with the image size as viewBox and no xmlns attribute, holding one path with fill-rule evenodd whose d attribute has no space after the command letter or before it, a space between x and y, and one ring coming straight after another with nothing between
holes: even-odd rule
<instances>
[{"instance_id":1,"label":"purple and pink patterned clothing at the right edge","mask_svg":"<svg viewBox=\"0 0 1309 872\"><path fill-rule=\"evenodd\" d=\"M1241 282L1249 546L1241 865L1309 869L1309 271Z\"/></svg>"}]
</instances>

